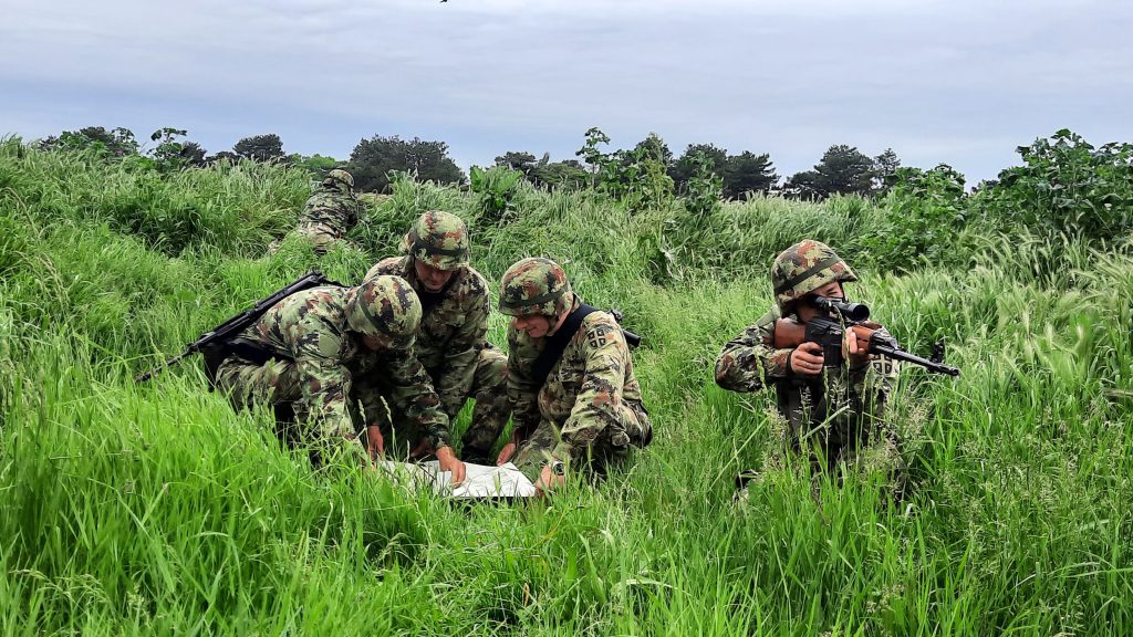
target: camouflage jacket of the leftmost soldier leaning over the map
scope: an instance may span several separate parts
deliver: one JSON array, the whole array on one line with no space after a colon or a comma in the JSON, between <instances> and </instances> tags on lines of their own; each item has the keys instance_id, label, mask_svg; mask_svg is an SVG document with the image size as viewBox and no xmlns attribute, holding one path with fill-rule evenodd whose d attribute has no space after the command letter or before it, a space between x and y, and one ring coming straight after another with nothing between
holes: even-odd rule
<instances>
[{"instance_id":1,"label":"camouflage jacket of the leftmost soldier leaning over the map","mask_svg":"<svg viewBox=\"0 0 1133 637\"><path fill-rule=\"evenodd\" d=\"M365 424L382 421L385 406L367 377L381 375L393 392L390 397L407 417L426 432L435 449L449 444L449 418L440 409L428 375L414 355L414 346L400 351L373 351L347 332L346 306L350 288L321 287L297 292L272 306L239 340L267 353L295 360L303 399L313 417L335 424L339 431L358 431L351 421L357 398Z\"/></svg>"}]
</instances>

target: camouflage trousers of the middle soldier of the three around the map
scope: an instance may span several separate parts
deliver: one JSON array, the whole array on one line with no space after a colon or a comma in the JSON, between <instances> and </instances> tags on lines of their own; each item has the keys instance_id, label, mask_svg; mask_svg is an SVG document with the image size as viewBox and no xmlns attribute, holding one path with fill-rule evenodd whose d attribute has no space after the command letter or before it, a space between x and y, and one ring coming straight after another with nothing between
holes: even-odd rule
<instances>
[{"instance_id":1,"label":"camouflage trousers of the middle soldier of the three around the map","mask_svg":"<svg viewBox=\"0 0 1133 637\"><path fill-rule=\"evenodd\" d=\"M427 370L434 382L440 377L440 370ZM382 436L385 439L386 453L402 458L418 450L424 439L424 432L411 424L411 419L390 399L390 388L381 379L373 379L376 391L389 407L389 419L378 423ZM484 460L492 451L496 439L503 432L511 417L511 404L508 400L508 357L497 349L487 348L480 351L472 374L472 384L466 400L476 400L472 409L472 423L465 432L461 444L461 458L469 455ZM432 453L435 449L429 449Z\"/></svg>"}]
</instances>

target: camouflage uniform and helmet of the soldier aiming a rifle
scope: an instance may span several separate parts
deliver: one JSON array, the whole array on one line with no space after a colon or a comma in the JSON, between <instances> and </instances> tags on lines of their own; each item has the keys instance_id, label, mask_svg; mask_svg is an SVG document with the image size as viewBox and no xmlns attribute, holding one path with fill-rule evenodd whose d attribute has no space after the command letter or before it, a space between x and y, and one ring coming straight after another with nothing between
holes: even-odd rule
<instances>
[{"instance_id":1,"label":"camouflage uniform and helmet of the soldier aiming a rifle","mask_svg":"<svg viewBox=\"0 0 1133 637\"><path fill-rule=\"evenodd\" d=\"M813 443L828 469L852 462L881 425L891 388L896 379L892 360L878 357L860 368L826 367L817 379L791 372L793 348L775 348L775 322L799 322L795 301L832 282L857 281L850 266L826 245L804 240L784 250L772 274L776 307L724 346L716 359L716 383L740 392L774 385L778 410L790 425L791 447L800 451ZM884 331L883 331L884 333ZM811 435L817 438L808 440ZM816 468L817 455L811 457Z\"/></svg>"}]
</instances>

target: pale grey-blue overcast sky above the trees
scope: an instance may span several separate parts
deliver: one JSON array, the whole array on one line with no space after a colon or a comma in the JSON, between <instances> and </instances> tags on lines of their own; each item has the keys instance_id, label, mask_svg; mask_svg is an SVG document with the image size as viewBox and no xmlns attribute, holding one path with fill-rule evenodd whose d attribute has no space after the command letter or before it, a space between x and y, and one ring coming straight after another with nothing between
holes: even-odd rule
<instances>
[{"instance_id":1,"label":"pale grey-blue overcast sky above the trees","mask_svg":"<svg viewBox=\"0 0 1133 637\"><path fill-rule=\"evenodd\" d=\"M832 144L970 184L1066 127L1133 141L1122 0L0 0L0 135L187 128L210 152L276 133L446 142L457 163L574 156L658 133L770 153Z\"/></svg>"}]
</instances>

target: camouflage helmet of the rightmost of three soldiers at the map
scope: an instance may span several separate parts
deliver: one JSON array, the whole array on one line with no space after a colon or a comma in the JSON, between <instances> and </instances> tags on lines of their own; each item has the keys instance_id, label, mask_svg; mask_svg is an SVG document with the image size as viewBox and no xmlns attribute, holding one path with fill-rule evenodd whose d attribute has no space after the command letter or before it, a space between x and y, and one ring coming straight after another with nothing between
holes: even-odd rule
<instances>
[{"instance_id":1,"label":"camouflage helmet of the rightmost of three soldiers at the map","mask_svg":"<svg viewBox=\"0 0 1133 637\"><path fill-rule=\"evenodd\" d=\"M573 303L566 273L550 258L523 258L500 282L500 312L510 316L560 316Z\"/></svg>"}]
</instances>

